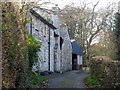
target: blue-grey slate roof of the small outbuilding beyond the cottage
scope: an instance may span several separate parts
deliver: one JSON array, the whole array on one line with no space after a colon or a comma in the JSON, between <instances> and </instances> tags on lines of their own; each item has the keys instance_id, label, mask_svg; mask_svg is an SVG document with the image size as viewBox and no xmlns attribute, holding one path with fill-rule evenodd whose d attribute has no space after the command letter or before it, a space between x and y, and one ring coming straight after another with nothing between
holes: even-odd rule
<instances>
[{"instance_id":1,"label":"blue-grey slate roof of the small outbuilding beyond the cottage","mask_svg":"<svg viewBox=\"0 0 120 90\"><path fill-rule=\"evenodd\" d=\"M72 44L72 53L82 56L83 52L76 40L71 40Z\"/></svg>"}]
</instances>

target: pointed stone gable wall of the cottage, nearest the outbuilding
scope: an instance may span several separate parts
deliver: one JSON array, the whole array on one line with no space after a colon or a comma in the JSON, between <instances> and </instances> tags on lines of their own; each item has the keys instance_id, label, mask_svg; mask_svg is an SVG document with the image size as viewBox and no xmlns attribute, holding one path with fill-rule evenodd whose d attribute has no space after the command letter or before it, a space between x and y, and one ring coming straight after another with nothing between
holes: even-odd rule
<instances>
[{"instance_id":1,"label":"pointed stone gable wall of the cottage, nearest the outbuilding","mask_svg":"<svg viewBox=\"0 0 120 90\"><path fill-rule=\"evenodd\" d=\"M67 30L61 30L60 36L64 42L61 49L61 70L72 70L72 45Z\"/></svg>"}]
</instances>

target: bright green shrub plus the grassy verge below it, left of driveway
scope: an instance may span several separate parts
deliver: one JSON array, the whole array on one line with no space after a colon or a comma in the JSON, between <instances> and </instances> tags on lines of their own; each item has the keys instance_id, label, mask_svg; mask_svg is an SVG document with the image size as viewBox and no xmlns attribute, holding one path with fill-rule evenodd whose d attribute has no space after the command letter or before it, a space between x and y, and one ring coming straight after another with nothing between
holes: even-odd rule
<instances>
[{"instance_id":1,"label":"bright green shrub plus the grassy verge below it, left of driveway","mask_svg":"<svg viewBox=\"0 0 120 90\"><path fill-rule=\"evenodd\" d=\"M37 73L32 72L32 66L35 62L38 61L37 52L40 51L40 42L36 40L33 36L27 34L27 45L28 45L28 58L29 58L29 83L28 88L42 88L42 85L45 84L46 78L41 77Z\"/></svg>"}]
</instances>

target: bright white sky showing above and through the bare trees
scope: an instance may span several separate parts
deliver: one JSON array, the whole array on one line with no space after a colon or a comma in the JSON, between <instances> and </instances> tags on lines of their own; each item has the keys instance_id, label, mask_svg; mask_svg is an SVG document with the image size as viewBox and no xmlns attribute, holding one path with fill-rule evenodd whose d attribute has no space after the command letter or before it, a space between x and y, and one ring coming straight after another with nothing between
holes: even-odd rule
<instances>
[{"instance_id":1,"label":"bright white sky showing above and through the bare trees","mask_svg":"<svg viewBox=\"0 0 120 90\"><path fill-rule=\"evenodd\" d=\"M97 3L98 0L44 0L44 1L49 1L51 3L58 4L58 6L60 8L63 8L65 5L68 5L70 3L75 3L76 5L80 6L80 3L83 2L83 1L86 1L86 3L93 2L93 5L94 5L94 4ZM100 8L107 7L108 4L112 4L113 2L118 4L119 1L120 0L99 0L99 4L97 5L96 9L100 10ZM48 5L48 7L52 7L52 5ZM90 7L92 7L92 6L89 6L89 8ZM99 38L96 38L92 41L92 44L97 43L98 41L99 41Z\"/></svg>"}]
</instances>

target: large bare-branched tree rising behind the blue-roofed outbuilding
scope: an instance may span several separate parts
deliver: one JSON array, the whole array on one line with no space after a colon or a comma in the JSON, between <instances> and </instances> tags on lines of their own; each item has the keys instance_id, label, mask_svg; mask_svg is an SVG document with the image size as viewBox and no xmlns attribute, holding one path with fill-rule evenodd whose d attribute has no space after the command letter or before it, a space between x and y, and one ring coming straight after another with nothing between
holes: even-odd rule
<instances>
[{"instance_id":1,"label":"large bare-branched tree rising behind the blue-roofed outbuilding","mask_svg":"<svg viewBox=\"0 0 120 90\"><path fill-rule=\"evenodd\" d=\"M110 5L99 12L96 11L98 4L99 1L92 8L88 8L86 3L80 7L71 5L61 10L62 26L67 27L71 39L76 39L82 46L85 60L90 60L90 46L93 40L101 31L111 30L113 25L113 11L109 9Z\"/></svg>"}]
</instances>

